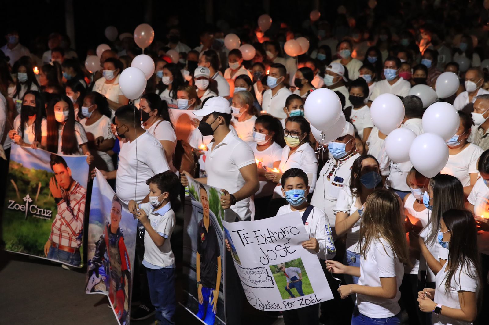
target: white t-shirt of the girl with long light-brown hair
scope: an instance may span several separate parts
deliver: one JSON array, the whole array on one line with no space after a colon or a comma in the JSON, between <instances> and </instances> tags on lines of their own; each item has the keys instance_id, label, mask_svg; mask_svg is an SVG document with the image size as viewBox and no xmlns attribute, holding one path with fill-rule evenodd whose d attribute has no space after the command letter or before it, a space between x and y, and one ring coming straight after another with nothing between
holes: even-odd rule
<instances>
[{"instance_id":1,"label":"white t-shirt of the girl with long light-brown hair","mask_svg":"<svg viewBox=\"0 0 489 325\"><path fill-rule=\"evenodd\" d=\"M387 252L387 253L386 253ZM404 265L395 256L392 247L383 239L372 239L366 257L360 256L359 285L382 286L380 278L396 277L397 294L394 299L356 294L360 313L371 318L387 318L400 312L399 287L404 277Z\"/></svg>"}]
</instances>

